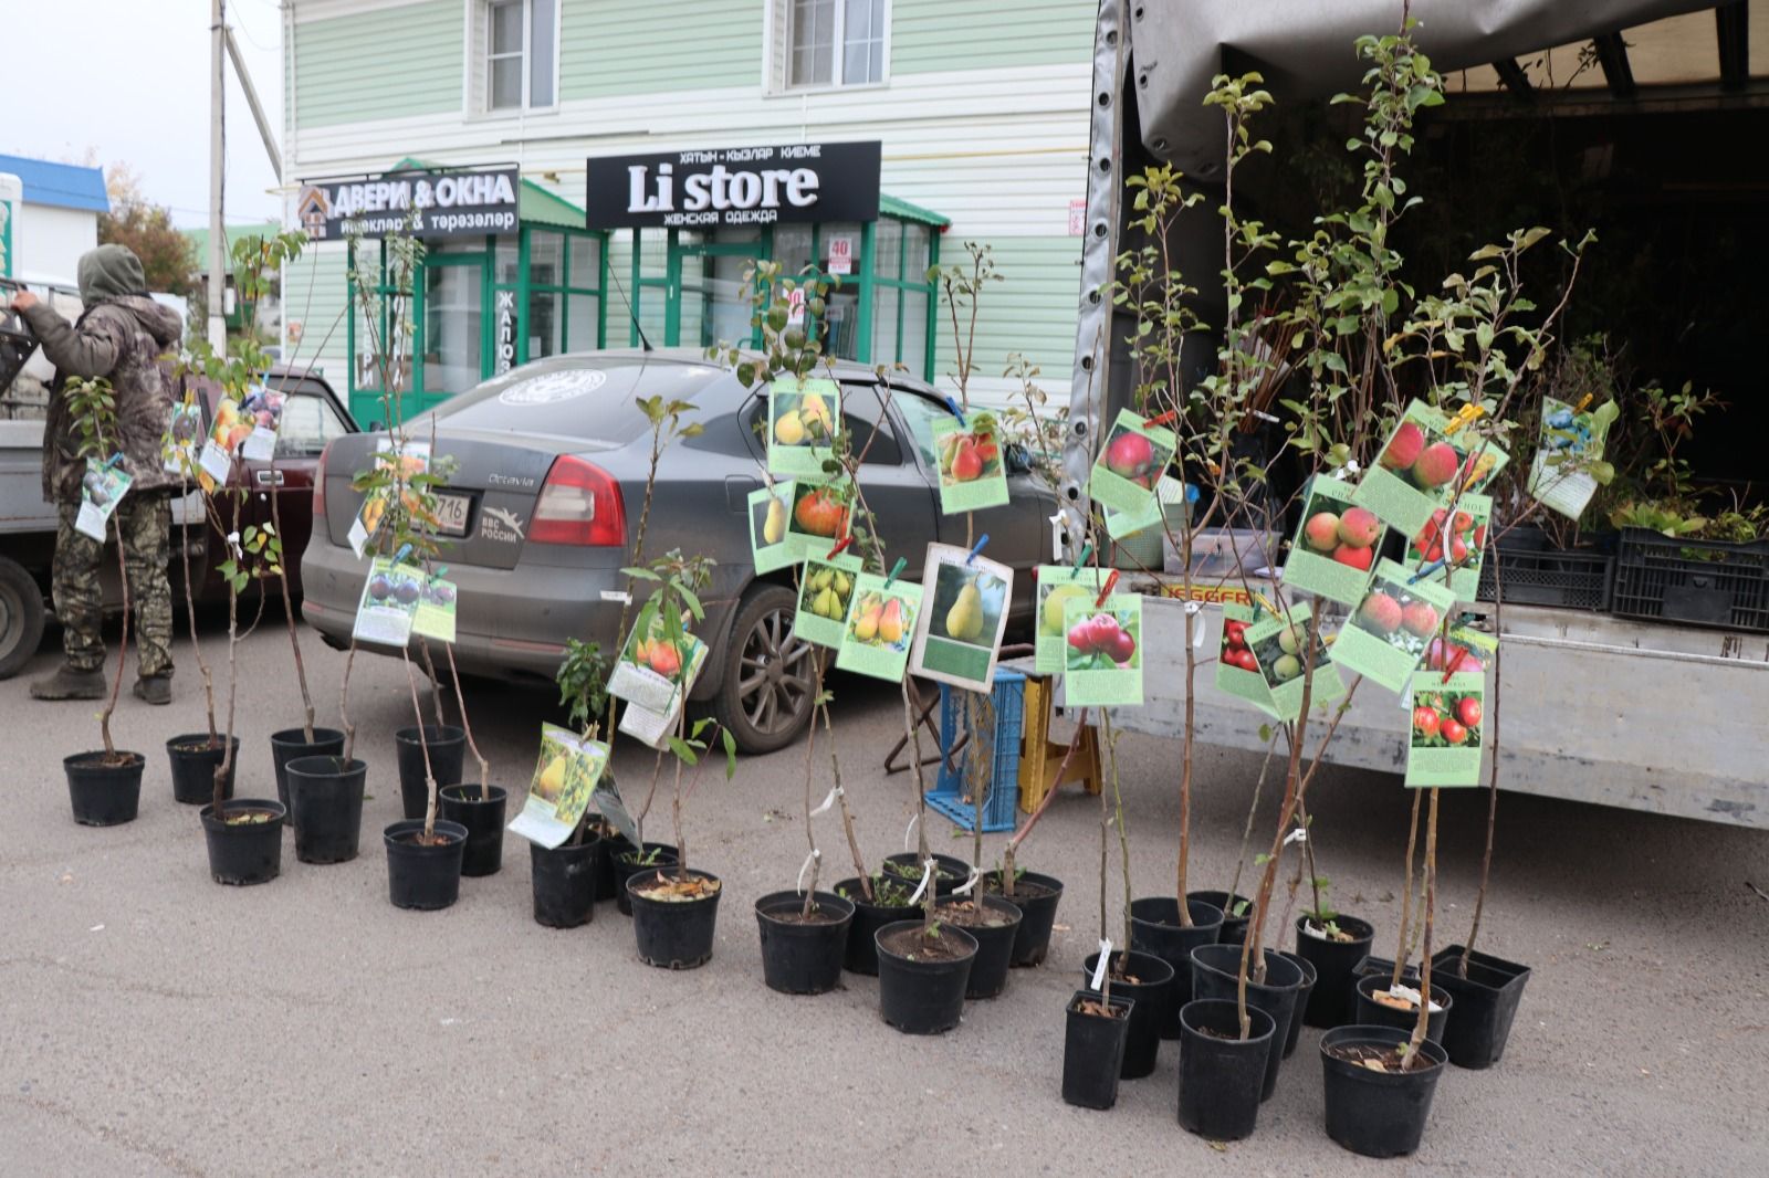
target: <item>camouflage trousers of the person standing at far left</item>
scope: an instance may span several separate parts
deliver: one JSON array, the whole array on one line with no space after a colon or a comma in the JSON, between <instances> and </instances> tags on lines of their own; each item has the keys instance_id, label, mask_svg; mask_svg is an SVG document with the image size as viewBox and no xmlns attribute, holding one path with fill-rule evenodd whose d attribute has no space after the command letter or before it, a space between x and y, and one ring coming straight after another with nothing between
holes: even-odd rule
<instances>
[{"instance_id":1,"label":"camouflage trousers of the person standing at far left","mask_svg":"<svg viewBox=\"0 0 1769 1178\"><path fill-rule=\"evenodd\" d=\"M99 587L104 545L74 531L78 502L57 506L55 568L51 598L62 623L62 651L74 670L104 665L104 593ZM172 674L172 499L166 495L124 495L111 515L111 527L122 536L129 577L129 603L134 607L134 649L143 679Z\"/></svg>"}]
</instances>

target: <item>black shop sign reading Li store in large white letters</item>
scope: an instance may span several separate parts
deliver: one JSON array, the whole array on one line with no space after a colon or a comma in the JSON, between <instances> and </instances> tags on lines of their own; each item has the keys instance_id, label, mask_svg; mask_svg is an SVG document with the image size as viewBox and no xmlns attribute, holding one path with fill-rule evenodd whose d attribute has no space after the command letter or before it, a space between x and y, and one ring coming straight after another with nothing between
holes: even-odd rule
<instances>
[{"instance_id":1,"label":"black shop sign reading Li store in large white letters","mask_svg":"<svg viewBox=\"0 0 1769 1178\"><path fill-rule=\"evenodd\" d=\"M874 221L877 143L720 147L589 159L589 228Z\"/></svg>"}]
</instances>

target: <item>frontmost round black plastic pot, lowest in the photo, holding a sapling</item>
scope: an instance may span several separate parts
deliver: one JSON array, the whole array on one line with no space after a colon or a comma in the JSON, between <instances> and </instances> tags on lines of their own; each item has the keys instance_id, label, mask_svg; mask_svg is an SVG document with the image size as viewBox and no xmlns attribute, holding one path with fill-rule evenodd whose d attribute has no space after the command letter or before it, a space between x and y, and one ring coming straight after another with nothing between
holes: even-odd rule
<instances>
[{"instance_id":1,"label":"frontmost round black plastic pot, lowest in the photo, holding a sapling","mask_svg":"<svg viewBox=\"0 0 1769 1178\"><path fill-rule=\"evenodd\" d=\"M1392 1026L1341 1026L1321 1035L1327 1086L1327 1136L1352 1153L1399 1157L1419 1148L1431 1116L1431 1095L1447 1056L1429 1040L1421 1044L1428 1067L1415 1072L1373 1072L1336 1059L1332 1047L1398 1047L1406 1031Z\"/></svg>"}]
</instances>

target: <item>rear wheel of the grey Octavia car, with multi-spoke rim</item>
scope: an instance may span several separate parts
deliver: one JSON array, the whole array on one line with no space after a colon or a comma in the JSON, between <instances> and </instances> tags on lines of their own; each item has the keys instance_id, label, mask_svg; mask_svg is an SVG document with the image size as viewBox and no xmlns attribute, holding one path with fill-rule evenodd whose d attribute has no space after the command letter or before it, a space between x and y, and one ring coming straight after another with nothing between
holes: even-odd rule
<instances>
[{"instance_id":1,"label":"rear wheel of the grey Octavia car, with multi-spoke rim","mask_svg":"<svg viewBox=\"0 0 1769 1178\"><path fill-rule=\"evenodd\" d=\"M814 647L793 637L796 607L789 587L759 582L731 621L713 716L745 753L785 748L810 725Z\"/></svg>"}]
</instances>

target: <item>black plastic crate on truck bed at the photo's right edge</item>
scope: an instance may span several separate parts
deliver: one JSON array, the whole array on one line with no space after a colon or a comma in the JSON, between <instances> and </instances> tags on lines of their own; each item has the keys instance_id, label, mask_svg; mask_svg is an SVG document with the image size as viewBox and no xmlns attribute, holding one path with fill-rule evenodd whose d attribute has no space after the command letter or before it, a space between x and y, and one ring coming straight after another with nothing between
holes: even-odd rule
<instances>
[{"instance_id":1,"label":"black plastic crate on truck bed at the photo's right edge","mask_svg":"<svg viewBox=\"0 0 1769 1178\"><path fill-rule=\"evenodd\" d=\"M1622 529L1612 610L1769 633L1769 541L1728 545Z\"/></svg>"}]
</instances>

